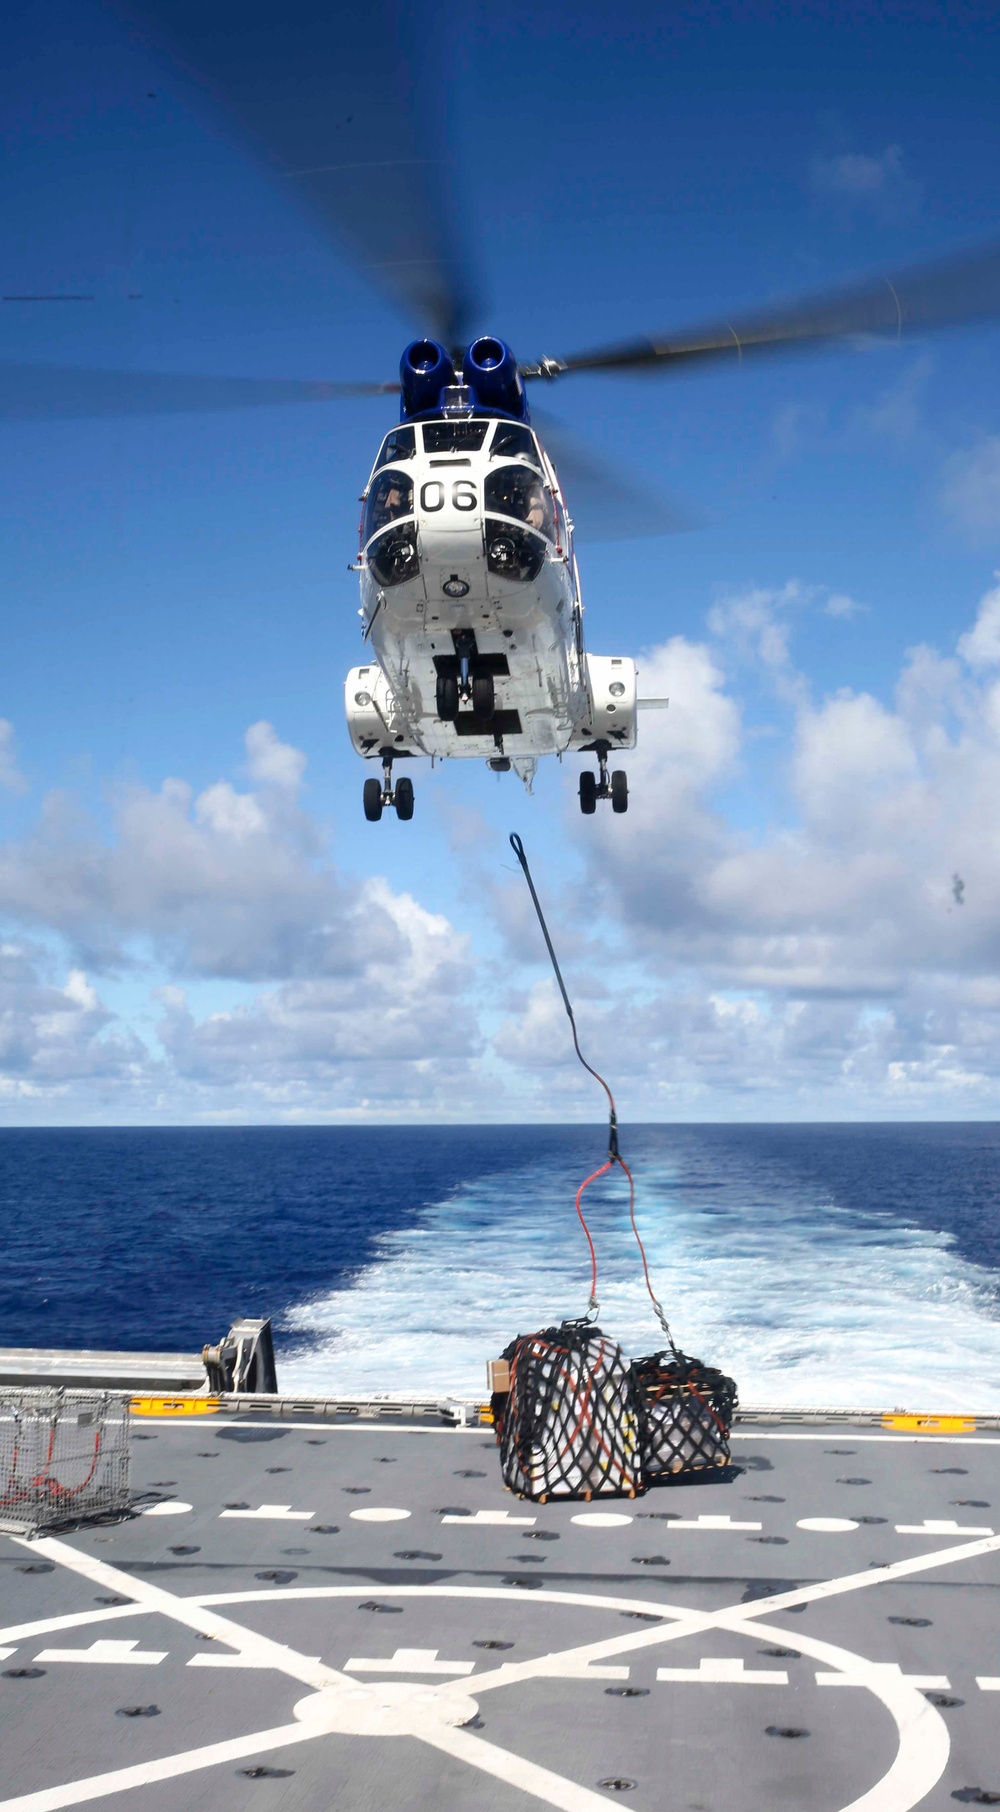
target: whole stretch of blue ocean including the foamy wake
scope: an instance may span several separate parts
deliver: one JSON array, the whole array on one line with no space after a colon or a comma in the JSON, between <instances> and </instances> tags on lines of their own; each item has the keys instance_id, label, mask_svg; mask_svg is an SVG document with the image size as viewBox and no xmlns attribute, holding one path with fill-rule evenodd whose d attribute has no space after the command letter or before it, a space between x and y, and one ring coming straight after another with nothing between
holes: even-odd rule
<instances>
[{"instance_id":1,"label":"whole stretch of blue ocean including the foamy wake","mask_svg":"<svg viewBox=\"0 0 1000 1812\"><path fill-rule=\"evenodd\" d=\"M1000 1408L1000 1127L623 1129L674 1337L745 1402ZM583 1314L600 1127L0 1131L2 1345L196 1350L275 1321L288 1390L476 1393ZM600 1321L661 1345L621 1176Z\"/></svg>"}]
</instances>

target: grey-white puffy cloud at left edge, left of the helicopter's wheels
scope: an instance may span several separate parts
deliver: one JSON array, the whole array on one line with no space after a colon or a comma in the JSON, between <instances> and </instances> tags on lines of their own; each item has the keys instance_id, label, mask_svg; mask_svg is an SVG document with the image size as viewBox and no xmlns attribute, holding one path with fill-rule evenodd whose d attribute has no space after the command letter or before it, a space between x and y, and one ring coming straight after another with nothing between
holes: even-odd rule
<instances>
[{"instance_id":1,"label":"grey-white puffy cloud at left edge, left of the helicopter's wheels","mask_svg":"<svg viewBox=\"0 0 1000 1812\"><path fill-rule=\"evenodd\" d=\"M391 915L341 881L299 806L304 757L255 728L259 790L130 786L111 841L71 797L49 795L36 830L0 846L0 913L62 933L89 966L130 962L141 940L187 975L342 975L397 949Z\"/></svg>"}]
</instances>

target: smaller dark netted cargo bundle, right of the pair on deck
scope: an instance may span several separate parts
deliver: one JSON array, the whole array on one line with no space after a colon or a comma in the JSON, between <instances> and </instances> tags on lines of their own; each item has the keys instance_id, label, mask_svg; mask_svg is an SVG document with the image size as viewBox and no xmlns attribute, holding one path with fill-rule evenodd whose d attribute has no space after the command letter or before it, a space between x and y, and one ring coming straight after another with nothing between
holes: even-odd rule
<instances>
[{"instance_id":1,"label":"smaller dark netted cargo bundle, right of the pair on deck","mask_svg":"<svg viewBox=\"0 0 1000 1812\"><path fill-rule=\"evenodd\" d=\"M632 1364L641 1428L643 1482L728 1466L736 1383L725 1372L659 1352Z\"/></svg>"}]
</instances>

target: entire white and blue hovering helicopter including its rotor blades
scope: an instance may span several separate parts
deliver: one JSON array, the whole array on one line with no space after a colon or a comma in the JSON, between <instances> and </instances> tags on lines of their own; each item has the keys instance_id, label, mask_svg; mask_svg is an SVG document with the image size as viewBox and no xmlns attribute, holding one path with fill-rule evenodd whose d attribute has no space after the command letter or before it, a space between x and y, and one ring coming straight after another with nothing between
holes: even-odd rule
<instances>
[{"instance_id":1,"label":"entire white and blue hovering helicopter including its rotor blades","mask_svg":"<svg viewBox=\"0 0 1000 1812\"><path fill-rule=\"evenodd\" d=\"M127 5L127 11L125 11ZM422 333L399 382L176 377L5 366L7 417L130 415L328 402L400 395L362 495L362 640L368 660L346 680L357 754L380 765L364 783L364 814L413 815L413 783L393 779L415 757L475 757L514 770L527 786L542 756L594 756L580 806L629 805L623 768L641 707L636 665L583 645L574 524L554 464L531 424L525 384L569 373L667 373L710 361L743 364L766 352L871 337L899 341L1000 313L1000 245L855 288L793 301L679 333L522 364L496 335L471 337L487 310L464 245L469 210L446 194L446 96L467 82L447 71L462 13L426 0L121 0L123 29L210 96L212 121L236 120L341 252ZM197 100L197 96L196 96ZM444 143L442 143L444 132ZM496 188L491 205L500 205ZM42 299L42 297L40 297ZM558 437L547 426L549 448ZM591 482L594 466L565 444ZM583 487L574 482L576 500ZM605 498L638 495L601 471ZM576 507L576 506L574 506ZM641 533L670 527L661 511ZM578 531L583 511L578 509ZM674 525L678 525L674 522Z\"/></svg>"}]
</instances>

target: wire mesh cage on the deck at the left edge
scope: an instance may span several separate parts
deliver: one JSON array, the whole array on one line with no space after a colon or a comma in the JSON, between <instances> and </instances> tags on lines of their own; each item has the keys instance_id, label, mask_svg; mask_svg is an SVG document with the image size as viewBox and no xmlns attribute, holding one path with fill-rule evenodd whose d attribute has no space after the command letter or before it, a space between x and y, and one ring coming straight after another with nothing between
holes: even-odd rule
<instances>
[{"instance_id":1,"label":"wire mesh cage on the deck at the left edge","mask_svg":"<svg viewBox=\"0 0 1000 1812\"><path fill-rule=\"evenodd\" d=\"M0 1393L0 1528L36 1533L129 1509L129 1401L103 1392Z\"/></svg>"}]
</instances>

